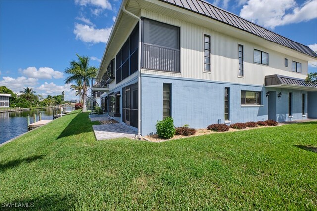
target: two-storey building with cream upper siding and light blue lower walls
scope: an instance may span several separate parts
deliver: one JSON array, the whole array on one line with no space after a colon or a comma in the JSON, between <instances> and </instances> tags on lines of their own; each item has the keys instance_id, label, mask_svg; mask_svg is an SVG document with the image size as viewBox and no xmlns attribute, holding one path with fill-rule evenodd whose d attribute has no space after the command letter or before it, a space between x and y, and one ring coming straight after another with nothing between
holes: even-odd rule
<instances>
[{"instance_id":1,"label":"two-storey building with cream upper siding and light blue lower walls","mask_svg":"<svg viewBox=\"0 0 317 211\"><path fill-rule=\"evenodd\" d=\"M92 88L106 113L156 132L176 127L317 117L317 55L205 1L123 1Z\"/></svg>"}]
</instances>

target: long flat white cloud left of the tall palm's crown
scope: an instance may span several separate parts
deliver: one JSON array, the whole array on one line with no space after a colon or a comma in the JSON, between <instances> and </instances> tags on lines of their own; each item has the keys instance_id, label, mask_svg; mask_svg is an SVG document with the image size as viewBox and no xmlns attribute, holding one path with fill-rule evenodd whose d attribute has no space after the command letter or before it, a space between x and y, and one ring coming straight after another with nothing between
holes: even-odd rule
<instances>
[{"instance_id":1,"label":"long flat white cloud left of the tall palm's crown","mask_svg":"<svg viewBox=\"0 0 317 211\"><path fill-rule=\"evenodd\" d=\"M54 79L60 79L64 77L62 72L53 70L49 67L40 67L39 70L37 70L36 67L28 67L24 70L19 69L19 71L27 77L37 79L52 79L52 77Z\"/></svg>"}]
</instances>

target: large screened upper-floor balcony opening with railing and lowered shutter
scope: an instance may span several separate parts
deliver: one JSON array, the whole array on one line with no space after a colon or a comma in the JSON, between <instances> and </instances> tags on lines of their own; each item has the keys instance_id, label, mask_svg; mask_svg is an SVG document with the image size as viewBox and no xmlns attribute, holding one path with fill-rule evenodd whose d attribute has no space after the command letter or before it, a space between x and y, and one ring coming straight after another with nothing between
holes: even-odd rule
<instances>
[{"instance_id":1,"label":"large screened upper-floor balcony opening with railing and lowered shutter","mask_svg":"<svg viewBox=\"0 0 317 211\"><path fill-rule=\"evenodd\" d=\"M142 67L180 72L180 28L143 18Z\"/></svg>"}]
</instances>

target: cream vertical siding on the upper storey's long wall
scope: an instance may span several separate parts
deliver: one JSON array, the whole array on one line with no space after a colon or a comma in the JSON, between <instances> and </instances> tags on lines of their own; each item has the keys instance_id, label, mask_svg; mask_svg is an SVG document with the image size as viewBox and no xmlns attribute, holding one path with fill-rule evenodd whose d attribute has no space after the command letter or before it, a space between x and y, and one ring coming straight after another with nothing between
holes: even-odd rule
<instances>
[{"instance_id":1,"label":"cream vertical siding on the upper storey's long wall","mask_svg":"<svg viewBox=\"0 0 317 211\"><path fill-rule=\"evenodd\" d=\"M296 59L256 44L204 28L199 25L170 18L147 10L141 10L141 16L180 27L181 73L142 70L142 73L176 76L213 81L225 81L241 84L264 85L265 75L280 74L296 78L305 78L307 61ZM211 36L211 72L204 72L203 35ZM244 46L244 77L238 77L238 44ZM254 64L254 49L269 53L269 66ZM288 58L288 67L284 67L284 58ZM302 74L291 71L292 60L302 63Z\"/></svg>"}]
</instances>

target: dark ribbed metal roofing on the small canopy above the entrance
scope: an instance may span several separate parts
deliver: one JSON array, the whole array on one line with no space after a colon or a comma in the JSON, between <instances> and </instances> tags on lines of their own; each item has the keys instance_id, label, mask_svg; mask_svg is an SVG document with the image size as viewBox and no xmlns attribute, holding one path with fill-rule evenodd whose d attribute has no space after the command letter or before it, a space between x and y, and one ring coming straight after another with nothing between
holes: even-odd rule
<instances>
[{"instance_id":1,"label":"dark ribbed metal roofing on the small canopy above the entrance","mask_svg":"<svg viewBox=\"0 0 317 211\"><path fill-rule=\"evenodd\" d=\"M290 84L290 85L299 85L305 87L317 88L317 83L306 83L304 79L292 78L282 75L270 75L265 76L265 86L270 85L281 85L281 84Z\"/></svg>"}]
</instances>

